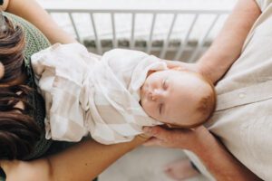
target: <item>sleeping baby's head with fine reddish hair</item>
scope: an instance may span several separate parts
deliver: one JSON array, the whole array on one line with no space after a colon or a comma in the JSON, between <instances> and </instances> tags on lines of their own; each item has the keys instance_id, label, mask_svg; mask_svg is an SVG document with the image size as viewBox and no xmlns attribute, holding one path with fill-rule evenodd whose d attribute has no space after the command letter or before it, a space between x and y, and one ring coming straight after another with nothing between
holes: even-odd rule
<instances>
[{"instance_id":1,"label":"sleeping baby's head with fine reddish hair","mask_svg":"<svg viewBox=\"0 0 272 181\"><path fill-rule=\"evenodd\" d=\"M141 87L143 110L172 127L199 126L209 119L215 103L212 83L192 71L150 72Z\"/></svg>"}]
</instances>

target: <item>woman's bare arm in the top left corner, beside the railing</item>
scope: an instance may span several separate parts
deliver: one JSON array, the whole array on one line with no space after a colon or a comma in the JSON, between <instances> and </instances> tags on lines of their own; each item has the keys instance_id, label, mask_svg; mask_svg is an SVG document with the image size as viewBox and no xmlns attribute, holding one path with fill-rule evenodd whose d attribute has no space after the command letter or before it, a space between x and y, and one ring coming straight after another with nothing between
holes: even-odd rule
<instances>
[{"instance_id":1,"label":"woman's bare arm in the top left corner, beside the railing","mask_svg":"<svg viewBox=\"0 0 272 181\"><path fill-rule=\"evenodd\" d=\"M18 15L34 24L50 43L75 43L71 35L63 31L52 17L35 0L4 0L2 10Z\"/></svg>"}]
</instances>

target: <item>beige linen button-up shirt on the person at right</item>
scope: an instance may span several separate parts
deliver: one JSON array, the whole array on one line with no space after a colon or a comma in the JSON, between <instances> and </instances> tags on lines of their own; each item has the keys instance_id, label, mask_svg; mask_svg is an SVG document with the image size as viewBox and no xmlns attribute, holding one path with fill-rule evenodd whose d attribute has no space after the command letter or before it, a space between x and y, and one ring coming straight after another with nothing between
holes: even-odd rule
<instances>
[{"instance_id":1,"label":"beige linen button-up shirt on the person at right","mask_svg":"<svg viewBox=\"0 0 272 181\"><path fill-rule=\"evenodd\" d=\"M217 109L207 127L253 173L272 180L272 0L257 0L257 5L262 14L216 87Z\"/></svg>"}]
</instances>

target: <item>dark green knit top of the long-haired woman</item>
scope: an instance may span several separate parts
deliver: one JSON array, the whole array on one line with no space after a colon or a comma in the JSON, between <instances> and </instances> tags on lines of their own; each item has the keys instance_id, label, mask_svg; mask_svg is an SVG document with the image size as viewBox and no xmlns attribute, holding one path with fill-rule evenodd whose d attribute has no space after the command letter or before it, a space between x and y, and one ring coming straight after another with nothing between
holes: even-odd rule
<instances>
[{"instance_id":1,"label":"dark green knit top of the long-haired woman","mask_svg":"<svg viewBox=\"0 0 272 181\"><path fill-rule=\"evenodd\" d=\"M49 41L45 38L44 34L41 33L34 25L26 22L24 19L15 16L14 14L7 14L5 13L10 20L12 20L13 24L20 25L23 27L24 34L25 34L25 48L24 48L24 66L27 73L27 84L36 89L36 85L34 82L34 72L31 68L30 58L34 52L39 52L48 46L50 46ZM30 101L33 102L34 111L33 117L37 124L44 130L44 116L45 116L45 108L44 108L44 99L38 93L34 93L29 98ZM41 157L47 149L51 145L51 140L45 139L44 133L42 132L40 141L35 145L34 151L31 155L24 157L24 159L34 159L37 157Z\"/></svg>"}]
</instances>

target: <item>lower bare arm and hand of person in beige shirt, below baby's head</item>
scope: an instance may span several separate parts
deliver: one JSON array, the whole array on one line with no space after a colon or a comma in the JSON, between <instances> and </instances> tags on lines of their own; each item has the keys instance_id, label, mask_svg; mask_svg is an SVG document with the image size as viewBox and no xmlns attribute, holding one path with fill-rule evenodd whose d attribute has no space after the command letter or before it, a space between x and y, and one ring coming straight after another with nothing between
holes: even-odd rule
<instances>
[{"instance_id":1,"label":"lower bare arm and hand of person in beige shirt, below baby's head","mask_svg":"<svg viewBox=\"0 0 272 181\"><path fill-rule=\"evenodd\" d=\"M162 129L159 126L145 128L144 131L153 137L147 146L189 149L194 152L207 167L210 174L220 181L257 181L261 180L228 150L203 126L190 129Z\"/></svg>"}]
</instances>

